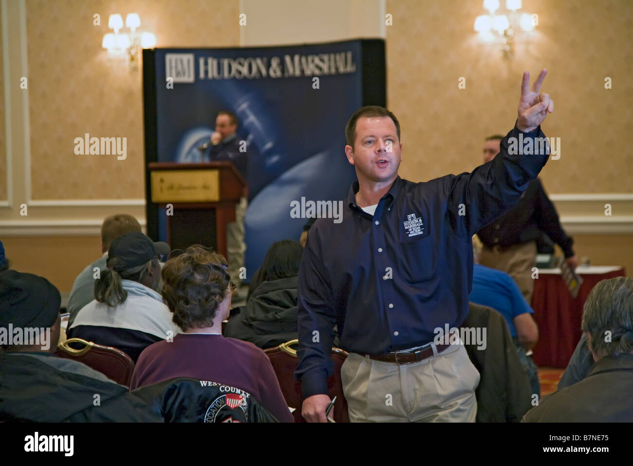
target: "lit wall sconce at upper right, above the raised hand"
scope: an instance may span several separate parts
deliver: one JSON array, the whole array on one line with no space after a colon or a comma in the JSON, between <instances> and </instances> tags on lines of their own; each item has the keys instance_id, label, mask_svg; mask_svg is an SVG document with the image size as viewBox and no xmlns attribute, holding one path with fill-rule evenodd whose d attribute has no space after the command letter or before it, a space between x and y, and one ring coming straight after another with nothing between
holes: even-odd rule
<instances>
[{"instance_id":1,"label":"lit wall sconce at upper right, above the raised hand","mask_svg":"<svg viewBox=\"0 0 633 466\"><path fill-rule=\"evenodd\" d=\"M506 0L506 13L495 14L499 10L499 0L484 0L484 9L489 15L480 15L475 19L475 31L484 41L503 41L503 56L511 58L514 55L516 31L534 30L539 25L539 15L518 13L521 10L521 0Z\"/></svg>"}]
</instances>

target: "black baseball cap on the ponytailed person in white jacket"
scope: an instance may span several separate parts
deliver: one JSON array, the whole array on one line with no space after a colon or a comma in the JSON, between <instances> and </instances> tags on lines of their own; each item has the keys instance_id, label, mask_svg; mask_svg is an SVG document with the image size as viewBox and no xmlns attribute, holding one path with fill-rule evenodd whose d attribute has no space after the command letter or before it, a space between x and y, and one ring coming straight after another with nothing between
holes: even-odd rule
<instances>
[{"instance_id":1,"label":"black baseball cap on the ponytailed person in white jacket","mask_svg":"<svg viewBox=\"0 0 633 466\"><path fill-rule=\"evenodd\" d=\"M121 271L131 269L154 259L162 254L169 254L170 247L161 241L153 242L149 236L140 231L126 233L116 238L108 249L109 269Z\"/></svg>"}]
</instances>

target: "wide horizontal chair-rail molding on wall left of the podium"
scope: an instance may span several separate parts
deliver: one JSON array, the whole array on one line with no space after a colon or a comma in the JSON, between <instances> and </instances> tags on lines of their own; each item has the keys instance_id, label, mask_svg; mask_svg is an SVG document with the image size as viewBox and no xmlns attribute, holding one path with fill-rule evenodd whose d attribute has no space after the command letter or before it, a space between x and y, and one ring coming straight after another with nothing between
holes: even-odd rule
<instances>
[{"instance_id":1,"label":"wide horizontal chair-rail molding on wall left of the podium","mask_svg":"<svg viewBox=\"0 0 633 466\"><path fill-rule=\"evenodd\" d=\"M0 236L99 236L103 220L9 220L0 224ZM139 220L146 231L145 219Z\"/></svg>"}]
</instances>

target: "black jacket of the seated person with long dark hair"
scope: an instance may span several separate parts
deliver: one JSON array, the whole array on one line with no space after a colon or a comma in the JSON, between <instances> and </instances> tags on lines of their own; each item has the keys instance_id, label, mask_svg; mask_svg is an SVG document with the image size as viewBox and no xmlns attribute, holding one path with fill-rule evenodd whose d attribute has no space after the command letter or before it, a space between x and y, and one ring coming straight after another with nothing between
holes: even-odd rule
<instances>
[{"instance_id":1,"label":"black jacket of the seated person with long dark hair","mask_svg":"<svg viewBox=\"0 0 633 466\"><path fill-rule=\"evenodd\" d=\"M297 277L262 282L223 335L266 349L297 338Z\"/></svg>"}]
</instances>

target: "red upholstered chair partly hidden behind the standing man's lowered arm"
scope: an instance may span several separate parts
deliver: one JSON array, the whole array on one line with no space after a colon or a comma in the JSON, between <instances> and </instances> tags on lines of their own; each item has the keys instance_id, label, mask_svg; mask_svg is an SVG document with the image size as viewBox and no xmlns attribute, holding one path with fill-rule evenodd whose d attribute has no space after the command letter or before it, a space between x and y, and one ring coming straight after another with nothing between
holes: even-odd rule
<instances>
[{"instance_id":1,"label":"red upholstered chair partly hidden behind the standing man's lowered arm","mask_svg":"<svg viewBox=\"0 0 633 466\"><path fill-rule=\"evenodd\" d=\"M296 408L292 413L294 422L306 422L301 416L301 405L303 404L301 382L294 379L294 370L299 364L295 349L298 344L299 340L291 340L280 344L278 347L265 349L264 353L268 355L268 359L270 359L270 363L275 370L286 403L291 408ZM336 397L334 408L332 408L334 415L330 411L330 418L334 419L334 422L349 422L348 402L343 396L343 385L341 383L341 366L347 357L347 351L332 348L331 358L334 361L334 375L327 379L327 389L330 399Z\"/></svg>"}]
</instances>

